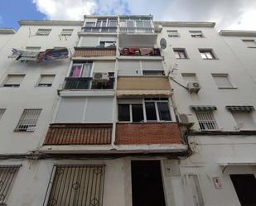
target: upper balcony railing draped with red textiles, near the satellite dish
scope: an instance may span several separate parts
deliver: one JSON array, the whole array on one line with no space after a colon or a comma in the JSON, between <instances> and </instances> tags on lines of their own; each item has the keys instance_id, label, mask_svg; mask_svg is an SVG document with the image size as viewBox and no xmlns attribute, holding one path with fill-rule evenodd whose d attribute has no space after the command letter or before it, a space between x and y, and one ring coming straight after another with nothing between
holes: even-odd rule
<instances>
[{"instance_id":1,"label":"upper balcony railing draped with red textiles, near the satellite dish","mask_svg":"<svg viewBox=\"0 0 256 206\"><path fill-rule=\"evenodd\" d=\"M143 55L143 56L161 56L159 49L154 48L120 48L120 55Z\"/></svg>"}]
</instances>

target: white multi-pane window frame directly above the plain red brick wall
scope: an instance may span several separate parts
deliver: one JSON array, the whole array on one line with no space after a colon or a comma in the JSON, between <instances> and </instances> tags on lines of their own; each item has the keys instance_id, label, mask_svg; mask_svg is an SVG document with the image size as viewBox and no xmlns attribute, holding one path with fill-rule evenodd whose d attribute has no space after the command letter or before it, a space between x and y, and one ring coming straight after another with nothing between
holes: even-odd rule
<instances>
[{"instance_id":1,"label":"white multi-pane window frame directly above the plain red brick wall","mask_svg":"<svg viewBox=\"0 0 256 206\"><path fill-rule=\"evenodd\" d=\"M154 103L154 107L155 107L155 111L156 111L156 115L157 115L157 120L147 120L147 112L146 112L146 103ZM170 120L161 120L160 119L160 114L158 111L158 106L157 103L167 103L168 109L169 109L169 114L170 114ZM118 122L133 122L133 111L132 111L132 105L133 104L142 104L142 112L143 112L143 121L142 122L174 122L175 118L173 117L172 113L171 113L171 105L170 105L170 100L169 98L167 99L163 99L163 98L158 98L158 99L146 99L146 98L142 98L142 103L118 103L119 104L126 104L129 105L129 113L130 113L130 120L129 121L119 121ZM118 111L119 112L119 111ZM118 114L119 115L119 114Z\"/></svg>"}]
</instances>

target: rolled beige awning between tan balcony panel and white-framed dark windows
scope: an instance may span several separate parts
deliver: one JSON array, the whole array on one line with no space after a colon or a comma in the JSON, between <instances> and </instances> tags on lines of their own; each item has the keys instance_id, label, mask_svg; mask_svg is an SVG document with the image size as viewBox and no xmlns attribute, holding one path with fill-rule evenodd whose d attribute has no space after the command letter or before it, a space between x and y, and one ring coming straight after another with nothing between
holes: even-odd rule
<instances>
[{"instance_id":1,"label":"rolled beige awning between tan balcony panel and white-framed dark windows","mask_svg":"<svg viewBox=\"0 0 256 206\"><path fill-rule=\"evenodd\" d=\"M171 92L168 90L119 90L117 96L171 96Z\"/></svg>"}]
</instances>

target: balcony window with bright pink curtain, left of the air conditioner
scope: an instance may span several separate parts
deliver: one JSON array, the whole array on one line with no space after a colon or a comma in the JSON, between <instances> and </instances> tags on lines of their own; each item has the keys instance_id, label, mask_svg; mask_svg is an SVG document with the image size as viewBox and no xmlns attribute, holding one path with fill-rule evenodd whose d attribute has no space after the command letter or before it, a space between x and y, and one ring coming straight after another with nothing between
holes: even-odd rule
<instances>
[{"instance_id":1,"label":"balcony window with bright pink curtain, left of the air conditioner","mask_svg":"<svg viewBox=\"0 0 256 206\"><path fill-rule=\"evenodd\" d=\"M90 77L92 75L93 63L87 62L72 65L70 77Z\"/></svg>"}]
</instances>

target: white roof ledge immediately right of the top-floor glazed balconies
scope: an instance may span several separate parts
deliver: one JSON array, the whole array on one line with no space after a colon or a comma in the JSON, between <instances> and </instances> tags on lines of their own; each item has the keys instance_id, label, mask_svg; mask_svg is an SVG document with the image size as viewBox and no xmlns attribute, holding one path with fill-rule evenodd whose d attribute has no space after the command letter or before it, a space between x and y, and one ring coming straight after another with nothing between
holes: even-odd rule
<instances>
[{"instance_id":1,"label":"white roof ledge immediately right of the top-floor glazed balconies","mask_svg":"<svg viewBox=\"0 0 256 206\"><path fill-rule=\"evenodd\" d=\"M177 27L215 27L215 22L154 22L156 25Z\"/></svg>"}]
</instances>

